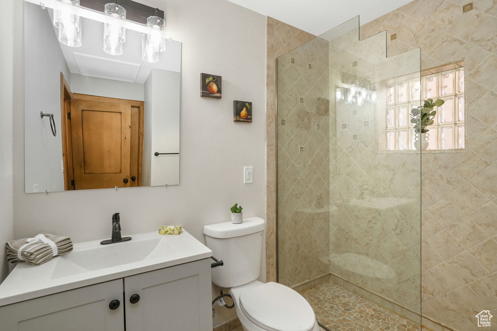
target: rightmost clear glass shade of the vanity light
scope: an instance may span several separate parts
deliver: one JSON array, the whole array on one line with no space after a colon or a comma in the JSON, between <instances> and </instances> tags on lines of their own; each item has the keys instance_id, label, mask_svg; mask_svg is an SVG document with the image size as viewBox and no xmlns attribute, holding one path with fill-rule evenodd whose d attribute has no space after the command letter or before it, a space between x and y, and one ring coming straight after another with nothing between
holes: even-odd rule
<instances>
[{"instance_id":1,"label":"rightmost clear glass shade of the vanity light","mask_svg":"<svg viewBox=\"0 0 497 331\"><path fill-rule=\"evenodd\" d=\"M156 14L159 9L156 9ZM159 61L159 52L166 50L166 21L158 16L147 18L147 33L142 34L142 59L145 62Z\"/></svg>"}]
</instances>

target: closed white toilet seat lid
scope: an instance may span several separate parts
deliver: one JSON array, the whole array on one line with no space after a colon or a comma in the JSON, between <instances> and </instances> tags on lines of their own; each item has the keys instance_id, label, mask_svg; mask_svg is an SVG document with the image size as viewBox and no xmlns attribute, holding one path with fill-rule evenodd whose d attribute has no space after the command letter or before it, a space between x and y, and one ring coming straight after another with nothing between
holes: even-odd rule
<instances>
[{"instance_id":1,"label":"closed white toilet seat lid","mask_svg":"<svg viewBox=\"0 0 497 331\"><path fill-rule=\"evenodd\" d=\"M265 283L240 294L240 308L247 318L268 331L311 331L316 316L299 293L285 285Z\"/></svg>"}]
</instances>

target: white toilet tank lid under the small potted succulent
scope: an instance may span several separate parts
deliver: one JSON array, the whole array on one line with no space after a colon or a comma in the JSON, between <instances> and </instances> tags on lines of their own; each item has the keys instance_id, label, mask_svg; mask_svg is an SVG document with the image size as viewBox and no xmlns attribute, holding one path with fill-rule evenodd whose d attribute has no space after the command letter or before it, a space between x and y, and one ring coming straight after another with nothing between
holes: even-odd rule
<instances>
[{"instance_id":1,"label":"white toilet tank lid under the small potted succulent","mask_svg":"<svg viewBox=\"0 0 497 331\"><path fill-rule=\"evenodd\" d=\"M265 223L260 217L244 218L239 224L231 221L204 226L204 234L213 238L233 238L264 230Z\"/></svg>"}]
</instances>

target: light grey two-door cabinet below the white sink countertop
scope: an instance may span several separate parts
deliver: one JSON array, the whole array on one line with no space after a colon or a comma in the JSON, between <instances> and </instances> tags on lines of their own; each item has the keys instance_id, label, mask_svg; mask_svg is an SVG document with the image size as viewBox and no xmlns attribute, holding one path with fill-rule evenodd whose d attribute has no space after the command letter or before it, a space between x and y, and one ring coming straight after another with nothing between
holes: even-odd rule
<instances>
[{"instance_id":1,"label":"light grey two-door cabinet below the white sink countertop","mask_svg":"<svg viewBox=\"0 0 497 331\"><path fill-rule=\"evenodd\" d=\"M133 304L134 294L140 299ZM113 300L120 302L115 310ZM212 330L210 259L0 307L0 330Z\"/></svg>"}]
</instances>

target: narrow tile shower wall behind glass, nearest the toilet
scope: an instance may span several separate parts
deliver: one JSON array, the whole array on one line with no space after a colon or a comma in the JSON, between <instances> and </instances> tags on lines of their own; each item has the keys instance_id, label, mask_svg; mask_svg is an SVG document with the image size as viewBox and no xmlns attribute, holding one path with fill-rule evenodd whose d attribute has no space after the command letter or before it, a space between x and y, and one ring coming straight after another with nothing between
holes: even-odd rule
<instances>
[{"instance_id":1,"label":"narrow tile shower wall behind glass, nearest the toilet","mask_svg":"<svg viewBox=\"0 0 497 331\"><path fill-rule=\"evenodd\" d=\"M328 42L278 58L278 273L288 286L329 270Z\"/></svg>"}]
</instances>

